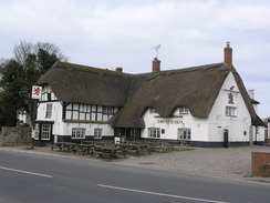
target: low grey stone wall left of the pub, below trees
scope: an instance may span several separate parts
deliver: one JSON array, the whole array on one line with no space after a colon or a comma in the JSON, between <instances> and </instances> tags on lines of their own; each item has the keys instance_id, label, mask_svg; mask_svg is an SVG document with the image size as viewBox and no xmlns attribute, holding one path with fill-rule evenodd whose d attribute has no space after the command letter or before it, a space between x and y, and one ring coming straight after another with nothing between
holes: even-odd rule
<instances>
[{"instance_id":1,"label":"low grey stone wall left of the pub, below trees","mask_svg":"<svg viewBox=\"0 0 270 203\"><path fill-rule=\"evenodd\" d=\"M0 131L0 145L29 145L32 143L31 129L24 126L2 126Z\"/></svg>"}]
</instances>

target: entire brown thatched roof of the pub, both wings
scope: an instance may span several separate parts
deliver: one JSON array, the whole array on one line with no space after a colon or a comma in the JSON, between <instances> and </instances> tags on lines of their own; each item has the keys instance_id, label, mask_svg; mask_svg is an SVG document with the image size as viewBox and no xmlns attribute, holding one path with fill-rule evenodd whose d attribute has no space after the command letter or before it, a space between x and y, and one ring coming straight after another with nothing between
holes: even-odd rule
<instances>
[{"instance_id":1,"label":"entire brown thatched roof of the pub, both wings","mask_svg":"<svg viewBox=\"0 0 270 203\"><path fill-rule=\"evenodd\" d=\"M112 126L144 128L142 115L147 108L156 108L160 116L169 118L177 106L185 105L194 116L207 118L228 74L225 63L126 74L58 62L38 84L50 84L61 101L122 106L110 120ZM233 71L233 75L256 123L251 100L238 73Z\"/></svg>"}]
</instances>

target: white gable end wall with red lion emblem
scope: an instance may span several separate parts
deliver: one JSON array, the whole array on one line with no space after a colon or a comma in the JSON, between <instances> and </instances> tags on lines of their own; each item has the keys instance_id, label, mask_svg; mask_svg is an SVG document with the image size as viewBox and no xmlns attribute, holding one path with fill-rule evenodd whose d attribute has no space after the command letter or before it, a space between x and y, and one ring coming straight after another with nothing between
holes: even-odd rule
<instances>
[{"instance_id":1,"label":"white gable end wall with red lion emblem","mask_svg":"<svg viewBox=\"0 0 270 203\"><path fill-rule=\"evenodd\" d=\"M235 87L232 91L228 91L231 87ZM232 93L233 95L233 104L229 103L229 93ZM226 106L237 108L237 115L226 115ZM224 129L229 130L229 142L249 141L249 126L251 125L251 118L232 73L229 73L225 80L208 119L209 141L224 141ZM243 133L245 131L246 135Z\"/></svg>"}]
</instances>

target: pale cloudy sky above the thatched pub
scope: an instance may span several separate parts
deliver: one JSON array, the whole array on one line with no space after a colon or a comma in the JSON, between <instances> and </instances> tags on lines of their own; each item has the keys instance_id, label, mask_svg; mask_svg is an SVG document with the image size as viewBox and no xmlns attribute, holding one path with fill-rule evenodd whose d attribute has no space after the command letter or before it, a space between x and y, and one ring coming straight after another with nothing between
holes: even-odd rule
<instances>
[{"instance_id":1,"label":"pale cloudy sky above the thatched pub","mask_svg":"<svg viewBox=\"0 0 270 203\"><path fill-rule=\"evenodd\" d=\"M20 41L58 45L69 62L126 73L224 61L227 41L247 90L270 116L269 0L0 0L0 59Z\"/></svg>"}]
</instances>

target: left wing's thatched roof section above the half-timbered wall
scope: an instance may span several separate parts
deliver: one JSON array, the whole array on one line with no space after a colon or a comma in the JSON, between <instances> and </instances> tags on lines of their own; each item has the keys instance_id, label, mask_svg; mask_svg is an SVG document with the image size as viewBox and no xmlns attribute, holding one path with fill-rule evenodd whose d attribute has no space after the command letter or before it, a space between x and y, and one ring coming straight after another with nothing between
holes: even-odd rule
<instances>
[{"instance_id":1,"label":"left wing's thatched roof section above the half-timbered wall","mask_svg":"<svg viewBox=\"0 0 270 203\"><path fill-rule=\"evenodd\" d=\"M56 62L37 83L50 84L60 101L123 106L131 81L115 71Z\"/></svg>"}]
</instances>

